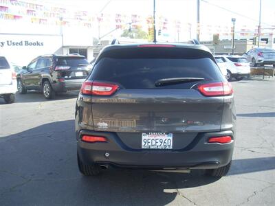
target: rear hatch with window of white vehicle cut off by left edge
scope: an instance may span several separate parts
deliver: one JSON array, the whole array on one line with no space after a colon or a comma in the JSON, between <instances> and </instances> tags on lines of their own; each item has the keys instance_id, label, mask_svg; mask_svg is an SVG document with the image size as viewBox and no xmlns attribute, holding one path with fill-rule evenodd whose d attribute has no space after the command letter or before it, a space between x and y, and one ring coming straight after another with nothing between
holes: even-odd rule
<instances>
[{"instance_id":1,"label":"rear hatch with window of white vehicle cut off by left edge","mask_svg":"<svg viewBox=\"0 0 275 206\"><path fill-rule=\"evenodd\" d=\"M0 56L0 85L12 84L12 69L5 57Z\"/></svg>"}]
</instances>

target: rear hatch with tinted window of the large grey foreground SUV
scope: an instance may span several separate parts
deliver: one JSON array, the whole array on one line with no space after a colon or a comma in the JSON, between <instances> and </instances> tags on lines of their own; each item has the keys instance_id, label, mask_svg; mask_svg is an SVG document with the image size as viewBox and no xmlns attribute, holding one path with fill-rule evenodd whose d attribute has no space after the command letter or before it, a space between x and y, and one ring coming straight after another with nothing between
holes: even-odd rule
<instances>
[{"instance_id":1,"label":"rear hatch with tinted window of the large grey foreground SUV","mask_svg":"<svg viewBox=\"0 0 275 206\"><path fill-rule=\"evenodd\" d=\"M167 78L197 80L156 84ZM113 95L92 96L94 130L115 132L130 148L141 148L143 137L164 134L173 136L173 149L180 149L198 133L221 128L223 97L206 97L196 89L224 81L208 52L181 47L102 52L89 81L118 86Z\"/></svg>"}]
</instances>

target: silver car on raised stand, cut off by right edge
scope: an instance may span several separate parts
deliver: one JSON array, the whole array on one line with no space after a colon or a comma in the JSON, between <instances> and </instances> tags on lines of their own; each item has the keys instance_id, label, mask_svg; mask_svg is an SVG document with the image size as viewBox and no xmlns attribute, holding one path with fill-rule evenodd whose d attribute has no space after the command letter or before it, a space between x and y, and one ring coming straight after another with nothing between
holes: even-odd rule
<instances>
[{"instance_id":1,"label":"silver car on raised stand, cut off by right edge","mask_svg":"<svg viewBox=\"0 0 275 206\"><path fill-rule=\"evenodd\" d=\"M252 66L273 65L275 67L275 50L270 48L253 48L243 56L247 58Z\"/></svg>"}]
</instances>

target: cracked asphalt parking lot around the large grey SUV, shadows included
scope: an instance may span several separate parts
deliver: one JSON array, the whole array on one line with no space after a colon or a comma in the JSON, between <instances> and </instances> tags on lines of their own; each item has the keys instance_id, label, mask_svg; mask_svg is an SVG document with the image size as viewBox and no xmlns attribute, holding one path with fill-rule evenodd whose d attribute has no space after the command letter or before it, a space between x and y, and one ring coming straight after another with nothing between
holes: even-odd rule
<instances>
[{"instance_id":1,"label":"cracked asphalt parking lot around the large grey SUV, shadows included","mask_svg":"<svg viewBox=\"0 0 275 206\"><path fill-rule=\"evenodd\" d=\"M232 82L237 139L221 179L203 171L78 172L74 107L78 93L38 92L0 100L0 205L274 205L275 79Z\"/></svg>"}]
</instances>

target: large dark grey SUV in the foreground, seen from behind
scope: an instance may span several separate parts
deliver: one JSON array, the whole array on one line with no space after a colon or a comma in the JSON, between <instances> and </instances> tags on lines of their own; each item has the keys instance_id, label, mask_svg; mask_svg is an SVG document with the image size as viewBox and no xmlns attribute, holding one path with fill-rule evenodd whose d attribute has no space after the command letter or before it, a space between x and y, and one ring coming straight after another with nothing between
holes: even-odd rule
<instances>
[{"instance_id":1,"label":"large dark grey SUV in the foreground, seen from behind","mask_svg":"<svg viewBox=\"0 0 275 206\"><path fill-rule=\"evenodd\" d=\"M206 169L223 176L235 135L231 84L202 45L111 45L76 102L78 168Z\"/></svg>"}]
</instances>

